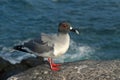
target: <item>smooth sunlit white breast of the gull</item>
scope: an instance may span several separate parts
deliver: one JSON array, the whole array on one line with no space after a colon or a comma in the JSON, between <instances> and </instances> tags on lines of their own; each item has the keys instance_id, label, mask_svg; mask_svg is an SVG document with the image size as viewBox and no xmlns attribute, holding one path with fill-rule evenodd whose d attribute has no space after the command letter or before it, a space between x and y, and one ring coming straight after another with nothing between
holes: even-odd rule
<instances>
[{"instance_id":1,"label":"smooth sunlit white breast of the gull","mask_svg":"<svg viewBox=\"0 0 120 80\"><path fill-rule=\"evenodd\" d=\"M68 34L64 36L63 35L59 36L59 38L54 44L54 55L60 56L64 54L68 50L69 44L70 44L70 37Z\"/></svg>"}]
</instances>

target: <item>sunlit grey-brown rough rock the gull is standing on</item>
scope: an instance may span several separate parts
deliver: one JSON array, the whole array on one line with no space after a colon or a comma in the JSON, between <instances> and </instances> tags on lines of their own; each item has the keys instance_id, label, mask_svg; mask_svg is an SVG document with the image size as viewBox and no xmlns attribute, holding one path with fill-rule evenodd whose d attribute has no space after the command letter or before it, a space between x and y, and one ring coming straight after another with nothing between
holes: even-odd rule
<instances>
[{"instance_id":1,"label":"sunlit grey-brown rough rock the gull is standing on","mask_svg":"<svg viewBox=\"0 0 120 80\"><path fill-rule=\"evenodd\" d=\"M64 63L60 71L42 64L7 80L120 80L120 61L80 61Z\"/></svg>"}]
</instances>

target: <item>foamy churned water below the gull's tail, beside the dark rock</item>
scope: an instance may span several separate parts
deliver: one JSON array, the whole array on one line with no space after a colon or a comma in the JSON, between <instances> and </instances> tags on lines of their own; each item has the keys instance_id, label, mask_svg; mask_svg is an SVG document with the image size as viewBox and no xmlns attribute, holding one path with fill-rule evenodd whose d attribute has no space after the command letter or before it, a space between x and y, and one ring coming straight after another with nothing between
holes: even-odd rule
<instances>
[{"instance_id":1,"label":"foamy churned water below the gull's tail, beside the dark rock","mask_svg":"<svg viewBox=\"0 0 120 80\"><path fill-rule=\"evenodd\" d=\"M12 48L3 47L0 56L12 64L20 63L21 60L28 57L36 57L34 54L15 51Z\"/></svg>"}]
</instances>

